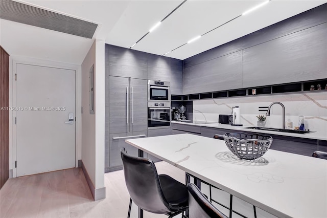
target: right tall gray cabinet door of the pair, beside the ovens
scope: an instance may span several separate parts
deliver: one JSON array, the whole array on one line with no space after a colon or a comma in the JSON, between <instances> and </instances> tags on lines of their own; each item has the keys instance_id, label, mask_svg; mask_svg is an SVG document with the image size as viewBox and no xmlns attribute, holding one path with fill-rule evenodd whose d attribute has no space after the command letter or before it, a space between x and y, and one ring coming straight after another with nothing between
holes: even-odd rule
<instances>
[{"instance_id":1,"label":"right tall gray cabinet door of the pair, beside the ovens","mask_svg":"<svg viewBox=\"0 0 327 218\"><path fill-rule=\"evenodd\" d=\"M129 132L146 131L148 128L147 84L145 79L130 79Z\"/></svg>"}]
</instances>

